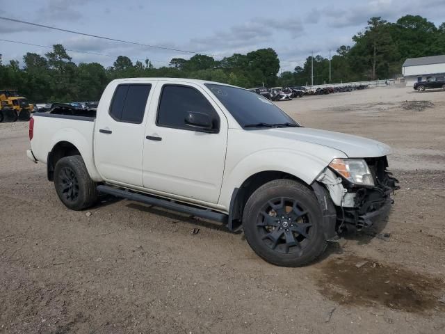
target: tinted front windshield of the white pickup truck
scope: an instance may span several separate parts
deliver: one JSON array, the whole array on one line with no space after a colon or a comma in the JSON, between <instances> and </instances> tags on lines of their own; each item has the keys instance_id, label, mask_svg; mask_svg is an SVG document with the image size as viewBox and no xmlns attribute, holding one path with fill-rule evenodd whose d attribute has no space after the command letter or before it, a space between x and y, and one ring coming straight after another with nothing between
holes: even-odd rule
<instances>
[{"instance_id":1,"label":"tinted front windshield of the white pickup truck","mask_svg":"<svg viewBox=\"0 0 445 334\"><path fill-rule=\"evenodd\" d=\"M241 127L296 127L298 123L257 93L224 85L205 84Z\"/></svg>"}]
</instances>

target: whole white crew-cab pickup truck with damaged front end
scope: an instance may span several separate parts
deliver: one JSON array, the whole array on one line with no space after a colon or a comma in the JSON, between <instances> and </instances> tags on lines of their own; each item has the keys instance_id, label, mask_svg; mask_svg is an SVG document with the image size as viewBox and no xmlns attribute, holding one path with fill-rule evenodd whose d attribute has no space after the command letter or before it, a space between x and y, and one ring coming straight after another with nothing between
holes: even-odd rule
<instances>
[{"instance_id":1,"label":"whole white crew-cab pickup truck with damaged front end","mask_svg":"<svg viewBox=\"0 0 445 334\"><path fill-rule=\"evenodd\" d=\"M261 95L209 81L118 79L97 111L35 113L29 138L70 209L108 193L223 222L287 267L371 225L397 189L387 145L302 127Z\"/></svg>"}]
</instances>

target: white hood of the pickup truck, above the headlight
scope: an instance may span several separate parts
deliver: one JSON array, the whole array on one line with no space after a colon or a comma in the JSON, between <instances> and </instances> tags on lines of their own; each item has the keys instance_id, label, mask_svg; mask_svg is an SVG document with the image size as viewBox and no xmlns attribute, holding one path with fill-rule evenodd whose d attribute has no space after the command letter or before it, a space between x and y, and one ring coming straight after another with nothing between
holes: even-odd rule
<instances>
[{"instance_id":1,"label":"white hood of the pickup truck, above the headlight","mask_svg":"<svg viewBox=\"0 0 445 334\"><path fill-rule=\"evenodd\" d=\"M304 141L334 148L350 158L372 158L391 154L391 148L372 139L341 134L340 132L311 129L307 127L284 127L260 130L270 136L286 138L293 141Z\"/></svg>"}]
</instances>

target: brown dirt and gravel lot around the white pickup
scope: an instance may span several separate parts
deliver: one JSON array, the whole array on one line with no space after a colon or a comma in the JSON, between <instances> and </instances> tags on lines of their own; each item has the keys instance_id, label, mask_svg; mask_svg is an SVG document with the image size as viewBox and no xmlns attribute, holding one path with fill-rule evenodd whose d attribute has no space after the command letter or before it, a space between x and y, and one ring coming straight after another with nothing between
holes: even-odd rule
<instances>
[{"instance_id":1,"label":"brown dirt and gravel lot around the white pickup","mask_svg":"<svg viewBox=\"0 0 445 334\"><path fill-rule=\"evenodd\" d=\"M26 122L0 124L0 333L445 333L445 93L280 106L307 127L388 143L401 181L387 220L299 269L136 202L72 212L26 158Z\"/></svg>"}]
</instances>

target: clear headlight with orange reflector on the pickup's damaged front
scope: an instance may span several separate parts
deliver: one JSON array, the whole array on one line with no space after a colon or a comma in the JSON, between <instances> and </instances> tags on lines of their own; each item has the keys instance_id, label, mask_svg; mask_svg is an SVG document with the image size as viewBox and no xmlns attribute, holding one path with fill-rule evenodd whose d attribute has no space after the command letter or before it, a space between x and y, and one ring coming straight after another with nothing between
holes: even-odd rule
<instances>
[{"instance_id":1,"label":"clear headlight with orange reflector on the pickup's damaged front","mask_svg":"<svg viewBox=\"0 0 445 334\"><path fill-rule=\"evenodd\" d=\"M354 184L374 185L373 175L364 159L334 159L329 166Z\"/></svg>"}]
</instances>

